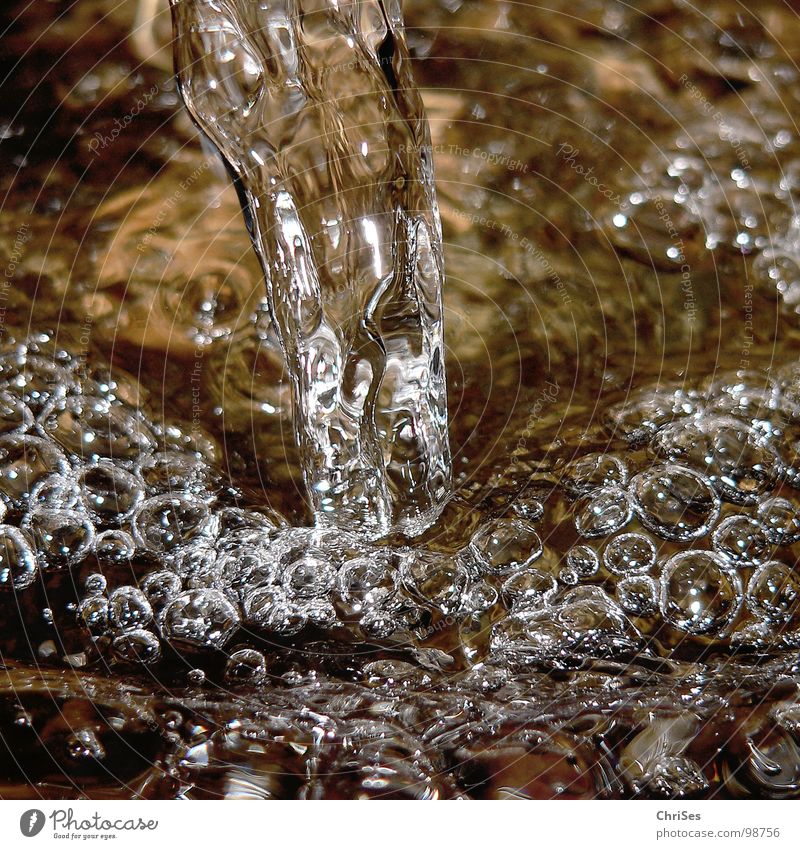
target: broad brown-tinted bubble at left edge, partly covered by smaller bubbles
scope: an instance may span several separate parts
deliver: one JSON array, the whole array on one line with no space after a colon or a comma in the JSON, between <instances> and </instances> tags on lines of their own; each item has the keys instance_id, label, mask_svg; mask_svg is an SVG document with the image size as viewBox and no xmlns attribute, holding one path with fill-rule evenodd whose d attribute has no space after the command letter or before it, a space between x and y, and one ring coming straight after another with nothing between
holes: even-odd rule
<instances>
[{"instance_id":1,"label":"broad brown-tinted bubble at left edge, partly covered by smaller bubbles","mask_svg":"<svg viewBox=\"0 0 800 849\"><path fill-rule=\"evenodd\" d=\"M50 441L29 434L0 436L0 498L9 509L25 510L39 481L68 471L67 458Z\"/></svg>"}]
</instances>

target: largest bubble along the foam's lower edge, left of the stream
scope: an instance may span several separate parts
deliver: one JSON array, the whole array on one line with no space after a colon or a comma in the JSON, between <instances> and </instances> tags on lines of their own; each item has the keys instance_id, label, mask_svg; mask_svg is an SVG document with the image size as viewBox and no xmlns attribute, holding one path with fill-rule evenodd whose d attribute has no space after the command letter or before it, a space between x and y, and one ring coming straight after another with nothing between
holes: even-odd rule
<instances>
[{"instance_id":1,"label":"largest bubble along the foam's lower edge, left of the stream","mask_svg":"<svg viewBox=\"0 0 800 849\"><path fill-rule=\"evenodd\" d=\"M167 640L218 649L239 627L239 614L219 590L189 590L168 602L158 622Z\"/></svg>"}]
</instances>

